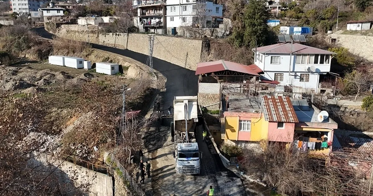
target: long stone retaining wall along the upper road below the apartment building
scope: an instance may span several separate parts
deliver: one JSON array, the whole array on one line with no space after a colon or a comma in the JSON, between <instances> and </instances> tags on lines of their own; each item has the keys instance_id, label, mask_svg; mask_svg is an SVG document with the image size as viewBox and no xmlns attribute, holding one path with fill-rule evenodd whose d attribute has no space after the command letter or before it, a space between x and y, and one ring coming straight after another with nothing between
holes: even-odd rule
<instances>
[{"instance_id":1,"label":"long stone retaining wall along the upper road below the apartment building","mask_svg":"<svg viewBox=\"0 0 373 196\"><path fill-rule=\"evenodd\" d=\"M48 29L46 29L48 30ZM98 27L81 25L61 25L56 35L73 40L128 49L148 55L149 36L147 34L99 33ZM201 58L202 41L180 37L154 35L153 57L195 70Z\"/></svg>"}]
</instances>

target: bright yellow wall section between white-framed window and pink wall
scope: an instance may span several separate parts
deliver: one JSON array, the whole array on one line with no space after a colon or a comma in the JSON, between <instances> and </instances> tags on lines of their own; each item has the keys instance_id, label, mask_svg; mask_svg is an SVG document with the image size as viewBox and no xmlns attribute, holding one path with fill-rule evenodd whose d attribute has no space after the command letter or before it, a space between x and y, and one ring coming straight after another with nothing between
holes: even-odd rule
<instances>
[{"instance_id":1,"label":"bright yellow wall section between white-framed window and pink wall","mask_svg":"<svg viewBox=\"0 0 373 196\"><path fill-rule=\"evenodd\" d=\"M260 141L268 139L268 122L262 118L251 119L250 141Z\"/></svg>"}]
</instances>

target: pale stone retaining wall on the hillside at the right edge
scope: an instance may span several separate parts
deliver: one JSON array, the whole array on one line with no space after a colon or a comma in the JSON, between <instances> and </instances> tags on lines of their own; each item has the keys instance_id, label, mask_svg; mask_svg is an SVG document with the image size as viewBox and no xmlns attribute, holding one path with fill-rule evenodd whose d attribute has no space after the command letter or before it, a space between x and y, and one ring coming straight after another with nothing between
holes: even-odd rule
<instances>
[{"instance_id":1,"label":"pale stone retaining wall on the hillside at the right edge","mask_svg":"<svg viewBox=\"0 0 373 196\"><path fill-rule=\"evenodd\" d=\"M336 43L342 47L348 48L351 53L373 61L373 50L370 50L373 46L373 36L344 34L331 34L329 36L336 39Z\"/></svg>"}]
</instances>

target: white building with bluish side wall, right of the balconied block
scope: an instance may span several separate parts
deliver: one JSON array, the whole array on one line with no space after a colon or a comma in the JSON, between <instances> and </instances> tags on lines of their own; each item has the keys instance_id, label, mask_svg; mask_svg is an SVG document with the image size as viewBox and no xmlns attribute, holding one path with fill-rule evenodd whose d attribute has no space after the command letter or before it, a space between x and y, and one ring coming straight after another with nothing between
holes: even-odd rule
<instances>
[{"instance_id":1,"label":"white building with bluish side wall, right of the balconied block","mask_svg":"<svg viewBox=\"0 0 373 196\"><path fill-rule=\"evenodd\" d=\"M197 5L196 0L167 0L166 1L166 20L167 30L175 27L195 25L197 17L205 16L206 23L211 22L212 18L223 17L223 6L206 1L206 5ZM206 10L201 13L200 10ZM198 15L198 16L197 16ZM222 19L221 19L222 20Z\"/></svg>"}]
</instances>

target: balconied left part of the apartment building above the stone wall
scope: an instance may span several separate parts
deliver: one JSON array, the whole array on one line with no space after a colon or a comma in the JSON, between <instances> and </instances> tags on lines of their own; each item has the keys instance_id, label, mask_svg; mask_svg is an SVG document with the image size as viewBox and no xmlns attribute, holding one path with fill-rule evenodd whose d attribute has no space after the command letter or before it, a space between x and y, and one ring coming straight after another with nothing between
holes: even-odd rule
<instances>
[{"instance_id":1,"label":"balconied left part of the apartment building above the stone wall","mask_svg":"<svg viewBox=\"0 0 373 196\"><path fill-rule=\"evenodd\" d=\"M142 32L164 34L166 28L165 1L134 0L133 6L137 9L137 24Z\"/></svg>"}]
</instances>

